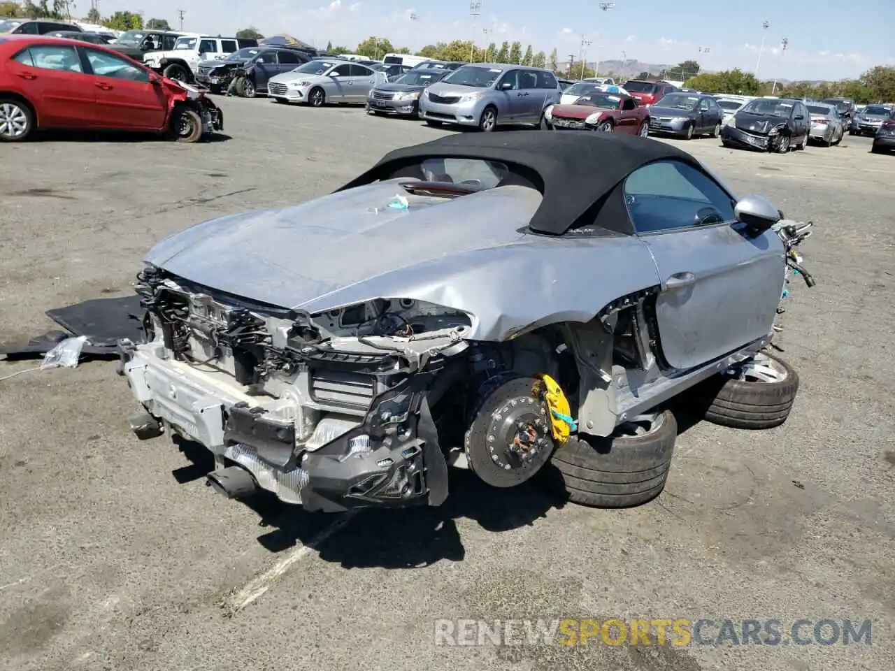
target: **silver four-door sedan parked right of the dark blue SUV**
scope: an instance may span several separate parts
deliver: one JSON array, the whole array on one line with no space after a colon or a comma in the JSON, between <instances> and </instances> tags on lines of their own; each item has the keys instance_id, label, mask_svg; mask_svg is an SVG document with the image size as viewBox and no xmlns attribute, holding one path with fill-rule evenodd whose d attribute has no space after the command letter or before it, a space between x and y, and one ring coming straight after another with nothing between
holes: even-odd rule
<instances>
[{"instance_id":1,"label":"silver four-door sedan parked right of the dark blue SUV","mask_svg":"<svg viewBox=\"0 0 895 671\"><path fill-rule=\"evenodd\" d=\"M313 60L268 80L268 96L278 103L320 107L367 102L370 89L386 82L383 72L341 60Z\"/></svg>"}]
</instances>

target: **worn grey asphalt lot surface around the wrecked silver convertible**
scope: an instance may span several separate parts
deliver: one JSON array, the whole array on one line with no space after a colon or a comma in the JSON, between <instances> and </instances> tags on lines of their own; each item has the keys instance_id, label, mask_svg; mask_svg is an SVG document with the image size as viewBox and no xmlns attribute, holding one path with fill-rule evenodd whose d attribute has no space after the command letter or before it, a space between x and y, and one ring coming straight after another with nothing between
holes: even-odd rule
<instances>
[{"instance_id":1,"label":"worn grey asphalt lot surface around the wrecked silver convertible","mask_svg":"<svg viewBox=\"0 0 895 671\"><path fill-rule=\"evenodd\" d=\"M49 308L129 293L168 234L320 196L447 132L218 102L229 139L2 148L0 342L52 327ZM631 510L456 471L439 508L312 516L226 501L202 454L137 441L113 364L27 372L0 381L0 667L895 668L895 157L848 136L786 156L678 144L817 223L802 251L818 285L793 285L779 341L802 382L784 426L686 428L666 491ZM33 365L0 363L0 378ZM442 617L871 619L873 644L436 646Z\"/></svg>"}]
</instances>

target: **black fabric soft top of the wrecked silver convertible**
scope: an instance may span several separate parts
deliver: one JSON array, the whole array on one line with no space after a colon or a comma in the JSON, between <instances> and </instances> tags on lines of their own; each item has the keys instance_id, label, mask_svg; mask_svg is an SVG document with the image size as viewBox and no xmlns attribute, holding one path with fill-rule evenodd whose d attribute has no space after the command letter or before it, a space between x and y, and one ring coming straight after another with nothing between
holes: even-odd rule
<instances>
[{"instance_id":1,"label":"black fabric soft top of the wrecked silver convertible","mask_svg":"<svg viewBox=\"0 0 895 671\"><path fill-rule=\"evenodd\" d=\"M479 158L523 166L537 175L543 194L529 228L561 235L637 168L674 159L703 170L685 151L658 140L603 132L512 131L457 133L395 149L337 191L396 176L430 157Z\"/></svg>"}]
</instances>

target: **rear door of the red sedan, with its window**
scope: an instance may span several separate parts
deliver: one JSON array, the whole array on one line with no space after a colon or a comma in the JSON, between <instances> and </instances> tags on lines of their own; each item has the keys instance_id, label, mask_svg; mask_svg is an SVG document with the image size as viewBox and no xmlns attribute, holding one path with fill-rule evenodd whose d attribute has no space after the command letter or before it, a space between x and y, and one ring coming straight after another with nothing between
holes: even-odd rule
<instances>
[{"instance_id":1,"label":"rear door of the red sedan, with its window","mask_svg":"<svg viewBox=\"0 0 895 671\"><path fill-rule=\"evenodd\" d=\"M6 65L21 93L29 98L44 127L90 128L95 124L96 94L75 47L33 45Z\"/></svg>"}]
</instances>

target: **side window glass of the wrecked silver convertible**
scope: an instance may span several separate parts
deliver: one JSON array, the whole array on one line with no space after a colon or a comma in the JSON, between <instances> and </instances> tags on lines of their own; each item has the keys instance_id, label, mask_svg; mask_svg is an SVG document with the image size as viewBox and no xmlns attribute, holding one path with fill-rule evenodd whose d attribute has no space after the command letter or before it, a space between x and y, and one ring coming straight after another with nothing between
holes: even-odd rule
<instances>
[{"instance_id":1,"label":"side window glass of the wrecked silver convertible","mask_svg":"<svg viewBox=\"0 0 895 671\"><path fill-rule=\"evenodd\" d=\"M625 202L638 234L734 220L734 202L712 178L679 161L657 161L628 175Z\"/></svg>"}]
</instances>

